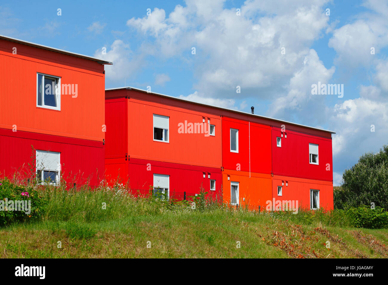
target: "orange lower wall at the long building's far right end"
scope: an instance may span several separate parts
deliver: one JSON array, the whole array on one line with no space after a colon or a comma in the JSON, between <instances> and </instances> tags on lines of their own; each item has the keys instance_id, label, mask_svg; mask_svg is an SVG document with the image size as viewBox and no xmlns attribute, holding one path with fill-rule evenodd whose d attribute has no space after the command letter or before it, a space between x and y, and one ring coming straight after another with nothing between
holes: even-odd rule
<instances>
[{"instance_id":1,"label":"orange lower wall at the long building's far right end","mask_svg":"<svg viewBox=\"0 0 388 285\"><path fill-rule=\"evenodd\" d=\"M282 181L284 181L282 196L278 196L277 187L282 186ZM319 190L320 207L326 210L333 209L333 182L279 175L273 177L272 195L275 200L298 200L299 207L310 209L310 189Z\"/></svg>"}]
</instances>

